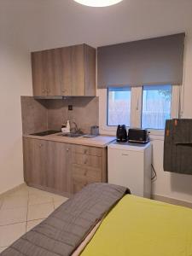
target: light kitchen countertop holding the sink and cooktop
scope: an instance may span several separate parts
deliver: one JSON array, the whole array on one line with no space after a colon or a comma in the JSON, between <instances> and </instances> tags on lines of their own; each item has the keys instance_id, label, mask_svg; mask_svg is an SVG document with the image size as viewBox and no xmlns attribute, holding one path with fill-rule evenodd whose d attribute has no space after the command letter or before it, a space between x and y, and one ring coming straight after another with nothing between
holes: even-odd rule
<instances>
[{"instance_id":1,"label":"light kitchen countertop holding the sink and cooktop","mask_svg":"<svg viewBox=\"0 0 192 256\"><path fill-rule=\"evenodd\" d=\"M78 144L78 145L97 147L97 148L106 148L109 143L112 143L115 140L115 137L111 137L111 136L100 135L97 137L86 138L86 137L61 137L61 136L58 136L59 134L61 134L61 132L51 134L51 135L46 135L44 137L33 136L33 135L23 135L23 137L58 142L58 143Z\"/></svg>"}]
</instances>

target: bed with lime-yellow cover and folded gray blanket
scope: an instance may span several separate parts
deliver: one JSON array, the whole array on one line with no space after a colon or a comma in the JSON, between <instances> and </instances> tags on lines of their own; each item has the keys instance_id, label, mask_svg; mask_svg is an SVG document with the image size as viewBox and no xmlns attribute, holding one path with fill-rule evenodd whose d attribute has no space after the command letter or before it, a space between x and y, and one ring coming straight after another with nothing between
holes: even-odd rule
<instances>
[{"instance_id":1,"label":"bed with lime-yellow cover and folded gray blanket","mask_svg":"<svg viewBox=\"0 0 192 256\"><path fill-rule=\"evenodd\" d=\"M191 256L192 210L94 183L2 256Z\"/></svg>"}]
</instances>

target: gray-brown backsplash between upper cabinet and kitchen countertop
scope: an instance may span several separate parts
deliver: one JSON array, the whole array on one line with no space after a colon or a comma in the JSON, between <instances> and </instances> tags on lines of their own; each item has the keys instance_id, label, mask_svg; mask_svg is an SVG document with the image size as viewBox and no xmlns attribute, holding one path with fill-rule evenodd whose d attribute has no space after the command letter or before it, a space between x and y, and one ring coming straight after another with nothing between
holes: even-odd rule
<instances>
[{"instance_id":1,"label":"gray-brown backsplash between upper cabinet and kitchen countertop","mask_svg":"<svg viewBox=\"0 0 192 256\"><path fill-rule=\"evenodd\" d=\"M73 110L68 110L73 105ZM45 130L61 130L61 125L70 120L84 133L90 133L91 125L99 122L98 97L71 97L64 100L36 100L32 96L21 96L23 134Z\"/></svg>"}]
</instances>

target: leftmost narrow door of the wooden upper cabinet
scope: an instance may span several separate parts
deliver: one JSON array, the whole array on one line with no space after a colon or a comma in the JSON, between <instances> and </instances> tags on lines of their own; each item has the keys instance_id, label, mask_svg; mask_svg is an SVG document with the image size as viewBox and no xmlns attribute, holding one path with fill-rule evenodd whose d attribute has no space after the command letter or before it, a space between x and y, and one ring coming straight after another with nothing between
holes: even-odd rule
<instances>
[{"instance_id":1,"label":"leftmost narrow door of the wooden upper cabinet","mask_svg":"<svg viewBox=\"0 0 192 256\"><path fill-rule=\"evenodd\" d=\"M33 96L47 96L44 81L44 52L32 52L32 88Z\"/></svg>"}]
</instances>

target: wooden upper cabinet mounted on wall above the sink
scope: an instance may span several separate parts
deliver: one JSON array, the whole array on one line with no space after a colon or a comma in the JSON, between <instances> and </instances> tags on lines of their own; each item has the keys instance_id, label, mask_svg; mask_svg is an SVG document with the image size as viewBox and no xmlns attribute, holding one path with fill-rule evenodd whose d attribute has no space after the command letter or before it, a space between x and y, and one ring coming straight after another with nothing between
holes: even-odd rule
<instances>
[{"instance_id":1,"label":"wooden upper cabinet mounted on wall above the sink","mask_svg":"<svg viewBox=\"0 0 192 256\"><path fill-rule=\"evenodd\" d=\"M96 49L86 44L32 53L34 96L96 96Z\"/></svg>"}]
</instances>

